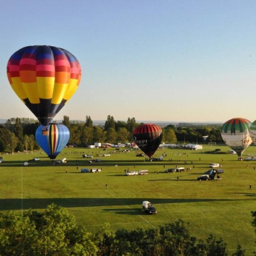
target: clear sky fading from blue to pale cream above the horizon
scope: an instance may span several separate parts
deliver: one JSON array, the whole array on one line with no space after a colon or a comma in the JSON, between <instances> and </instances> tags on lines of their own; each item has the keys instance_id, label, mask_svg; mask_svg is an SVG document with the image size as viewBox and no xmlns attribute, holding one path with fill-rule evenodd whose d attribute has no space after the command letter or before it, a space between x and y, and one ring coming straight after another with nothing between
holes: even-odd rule
<instances>
[{"instance_id":1,"label":"clear sky fading from blue to pale cream above the horizon","mask_svg":"<svg viewBox=\"0 0 256 256\"><path fill-rule=\"evenodd\" d=\"M24 46L67 49L82 79L54 120L256 119L254 0L2 0L0 118L35 118L6 76ZM255 93L255 94L254 94Z\"/></svg>"}]
</instances>

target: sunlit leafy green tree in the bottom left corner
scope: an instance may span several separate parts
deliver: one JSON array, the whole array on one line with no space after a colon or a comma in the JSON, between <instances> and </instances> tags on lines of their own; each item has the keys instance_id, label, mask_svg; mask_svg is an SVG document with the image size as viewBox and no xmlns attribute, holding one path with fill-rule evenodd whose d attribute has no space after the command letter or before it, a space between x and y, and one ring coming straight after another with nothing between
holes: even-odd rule
<instances>
[{"instance_id":1,"label":"sunlit leafy green tree in the bottom left corner","mask_svg":"<svg viewBox=\"0 0 256 256\"><path fill-rule=\"evenodd\" d=\"M1 213L0 255L96 255L92 234L55 204L43 212Z\"/></svg>"}]
</instances>

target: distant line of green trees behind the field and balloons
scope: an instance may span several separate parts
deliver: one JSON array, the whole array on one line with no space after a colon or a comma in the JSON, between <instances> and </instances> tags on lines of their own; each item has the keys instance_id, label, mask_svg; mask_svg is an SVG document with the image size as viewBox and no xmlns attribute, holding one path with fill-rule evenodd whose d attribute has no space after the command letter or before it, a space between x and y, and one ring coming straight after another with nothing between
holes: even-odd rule
<instances>
[{"instance_id":1,"label":"distant line of green trees behind the field and balloons","mask_svg":"<svg viewBox=\"0 0 256 256\"><path fill-rule=\"evenodd\" d=\"M69 144L73 146L86 146L94 142L108 142L112 144L133 142L135 127L142 125L135 118L127 121L115 121L108 115L105 124L94 125L89 115L85 121L70 121L64 115L61 122L70 132ZM35 141L35 131L40 126L38 121L30 118L10 118L0 125L0 152L7 150L33 151L39 146ZM163 129L163 142L165 143L222 143L221 125L167 125Z\"/></svg>"}]
</instances>

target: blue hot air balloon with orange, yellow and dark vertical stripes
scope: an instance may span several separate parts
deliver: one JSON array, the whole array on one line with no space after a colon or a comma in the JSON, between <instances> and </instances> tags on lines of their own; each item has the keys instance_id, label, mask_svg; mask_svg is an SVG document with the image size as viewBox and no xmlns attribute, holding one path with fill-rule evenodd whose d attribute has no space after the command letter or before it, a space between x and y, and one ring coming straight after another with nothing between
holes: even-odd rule
<instances>
[{"instance_id":1,"label":"blue hot air balloon with orange, yellow and dark vertical stripes","mask_svg":"<svg viewBox=\"0 0 256 256\"><path fill-rule=\"evenodd\" d=\"M36 141L50 159L55 159L69 141L68 127L60 123L49 123L46 135L42 132L43 128L44 126L41 125L36 129Z\"/></svg>"}]
</instances>

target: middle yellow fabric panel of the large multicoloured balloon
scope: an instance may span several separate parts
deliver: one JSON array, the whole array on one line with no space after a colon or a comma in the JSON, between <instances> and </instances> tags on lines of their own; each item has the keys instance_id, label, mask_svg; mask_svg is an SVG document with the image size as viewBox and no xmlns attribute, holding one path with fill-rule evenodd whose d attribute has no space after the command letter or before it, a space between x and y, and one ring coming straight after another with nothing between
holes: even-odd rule
<instances>
[{"instance_id":1,"label":"middle yellow fabric panel of the large multicoloured balloon","mask_svg":"<svg viewBox=\"0 0 256 256\"><path fill-rule=\"evenodd\" d=\"M43 99L52 98L55 77L37 77L38 97Z\"/></svg>"}]
</instances>

